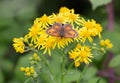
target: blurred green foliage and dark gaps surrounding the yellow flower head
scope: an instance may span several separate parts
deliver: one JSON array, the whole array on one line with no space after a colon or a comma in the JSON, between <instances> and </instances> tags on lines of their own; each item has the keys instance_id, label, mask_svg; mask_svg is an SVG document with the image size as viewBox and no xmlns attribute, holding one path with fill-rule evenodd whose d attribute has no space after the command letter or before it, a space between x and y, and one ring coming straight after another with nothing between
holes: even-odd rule
<instances>
[{"instance_id":1,"label":"blurred green foliage and dark gaps surrounding the yellow flower head","mask_svg":"<svg viewBox=\"0 0 120 83\"><path fill-rule=\"evenodd\" d=\"M75 13L81 14L86 18L93 18L96 22L100 23L103 27L103 38L108 38L111 40L113 44L113 48L102 56L100 56L97 52L95 52L95 57L92 59L92 62L88 66L86 72L82 76L82 83L108 83L111 77L107 77L103 75L104 73L110 74L111 71L109 69L113 68L114 76L120 76L120 64L119 64L119 54L120 54L120 38L119 38L119 0L114 0L114 30L108 31L108 14L106 12L106 4L111 0L101 0L99 3L98 0L90 0L92 4L88 0L75 0L71 3L70 0L66 1L45 1L45 0L0 0L0 83L23 83L28 77L24 75L24 72L20 71L21 66L26 66L29 63L29 57L33 56L33 52L23 53L22 55L19 53L15 53L12 47L12 39L14 37L21 37L27 33L28 28L32 26L33 20L36 17L41 17L44 13L50 15L53 12L58 12L58 9L61 6L66 6L68 8L75 9ZM77 4L76 4L77 2ZM75 5L73 5L75 4ZM77 5L77 7L76 7ZM103 6L105 5L105 6ZM94 11L91 9L93 8ZM79 10L80 9L80 10ZM96 9L96 10L95 10ZM95 41L98 42L98 39L95 38ZM69 47L68 47L69 48ZM74 48L71 47L70 49ZM110 61L109 52L112 52L113 56ZM56 77L59 76L60 73L60 62L61 56L56 56L58 53L54 53L53 60L45 55L47 59L50 60L50 66L52 71L55 71ZM108 62L106 63L104 62ZM72 62L70 60L70 62ZM105 65L104 65L105 64ZM70 63L67 63L67 66ZM107 67L107 68L106 68ZM65 83L70 83L71 81L75 81L81 75L81 71L84 68L84 64L81 64L80 67L72 69L66 72L65 75ZM42 79L39 83L50 83L49 76L47 72L47 68L44 67L45 70L42 70L40 74L40 78ZM103 73L103 71L105 72ZM110 71L110 72L109 72ZM99 74L101 73L101 74ZM74 76L74 77L73 77ZM89 80L89 81L88 81ZM32 79L28 79L27 81L33 82ZM115 80L114 83L119 83L119 79Z\"/></svg>"}]
</instances>

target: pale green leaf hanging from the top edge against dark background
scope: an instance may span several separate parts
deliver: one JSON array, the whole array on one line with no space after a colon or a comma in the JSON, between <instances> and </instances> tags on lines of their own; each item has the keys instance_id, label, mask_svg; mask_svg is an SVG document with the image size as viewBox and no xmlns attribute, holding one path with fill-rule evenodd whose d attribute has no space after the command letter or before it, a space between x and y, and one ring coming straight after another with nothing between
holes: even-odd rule
<instances>
[{"instance_id":1,"label":"pale green leaf hanging from the top edge against dark background","mask_svg":"<svg viewBox=\"0 0 120 83\"><path fill-rule=\"evenodd\" d=\"M92 9L95 10L97 7L106 5L111 2L111 0L90 0L92 3Z\"/></svg>"}]
</instances>

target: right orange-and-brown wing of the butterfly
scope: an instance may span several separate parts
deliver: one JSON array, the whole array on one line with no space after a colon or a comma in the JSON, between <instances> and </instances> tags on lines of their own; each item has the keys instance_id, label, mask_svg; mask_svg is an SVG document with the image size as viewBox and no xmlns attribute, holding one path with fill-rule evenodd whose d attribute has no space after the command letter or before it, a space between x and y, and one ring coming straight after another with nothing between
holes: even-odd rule
<instances>
[{"instance_id":1,"label":"right orange-and-brown wing of the butterfly","mask_svg":"<svg viewBox=\"0 0 120 83\"><path fill-rule=\"evenodd\" d=\"M78 36L77 31L75 31L75 30L72 29L72 25L70 25L70 24L65 24L65 25L63 26L63 28L64 28L63 37L65 37L65 38L74 38L74 37L77 37L77 36Z\"/></svg>"}]
</instances>

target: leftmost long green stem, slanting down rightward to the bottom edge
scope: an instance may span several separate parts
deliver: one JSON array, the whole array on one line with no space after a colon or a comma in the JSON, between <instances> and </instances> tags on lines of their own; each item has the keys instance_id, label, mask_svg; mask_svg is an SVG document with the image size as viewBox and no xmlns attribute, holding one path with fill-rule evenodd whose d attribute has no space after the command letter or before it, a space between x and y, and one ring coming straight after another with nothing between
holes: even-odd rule
<instances>
[{"instance_id":1,"label":"leftmost long green stem, slanting down rightward to the bottom edge","mask_svg":"<svg viewBox=\"0 0 120 83\"><path fill-rule=\"evenodd\" d=\"M49 73L50 73L50 78L51 78L51 80L53 81L53 83L57 83L57 82L55 81L55 77L54 77L53 72L52 72L52 70L51 70L51 68L50 68L50 66L49 66L48 61L46 60L46 58L45 58L42 54L40 54L39 52L37 52L37 53L40 55L41 59L44 61L46 67L48 68L48 71L49 71Z\"/></svg>"}]
</instances>

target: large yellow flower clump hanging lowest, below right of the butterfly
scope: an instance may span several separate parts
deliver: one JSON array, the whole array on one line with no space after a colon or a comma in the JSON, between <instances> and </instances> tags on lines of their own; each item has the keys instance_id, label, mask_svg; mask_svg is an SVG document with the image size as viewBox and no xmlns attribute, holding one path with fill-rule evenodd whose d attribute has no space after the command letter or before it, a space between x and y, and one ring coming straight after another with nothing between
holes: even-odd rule
<instances>
[{"instance_id":1,"label":"large yellow flower clump hanging lowest, below right of the butterfly","mask_svg":"<svg viewBox=\"0 0 120 83\"><path fill-rule=\"evenodd\" d=\"M69 52L70 58L75 61L75 66L80 66L81 63L89 64L93 57L91 49L88 46L77 45L77 47Z\"/></svg>"}]
</instances>

